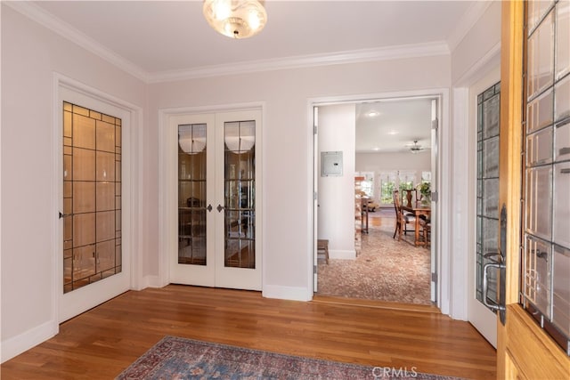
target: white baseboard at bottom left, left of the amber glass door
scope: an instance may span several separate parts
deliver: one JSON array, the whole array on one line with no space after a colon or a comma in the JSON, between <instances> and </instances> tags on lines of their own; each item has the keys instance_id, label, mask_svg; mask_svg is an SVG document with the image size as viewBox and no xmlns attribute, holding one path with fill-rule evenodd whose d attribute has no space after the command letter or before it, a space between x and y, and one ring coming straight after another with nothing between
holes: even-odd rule
<instances>
[{"instance_id":1,"label":"white baseboard at bottom left, left of the amber glass door","mask_svg":"<svg viewBox=\"0 0 570 380\"><path fill-rule=\"evenodd\" d=\"M2 363L11 360L13 357L20 355L22 352L28 351L30 348L37 346L55 336L59 332L60 326L55 321L45 322L43 325L34 327L18 336L6 339L0 347L0 356Z\"/></svg>"}]
</instances>

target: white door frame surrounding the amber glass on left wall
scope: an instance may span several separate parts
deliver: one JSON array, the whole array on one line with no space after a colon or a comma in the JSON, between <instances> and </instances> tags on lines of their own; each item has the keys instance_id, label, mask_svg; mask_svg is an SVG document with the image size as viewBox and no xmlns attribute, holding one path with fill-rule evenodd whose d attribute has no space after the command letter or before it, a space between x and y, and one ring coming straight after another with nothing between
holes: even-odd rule
<instances>
[{"instance_id":1,"label":"white door frame surrounding the amber glass on left wall","mask_svg":"<svg viewBox=\"0 0 570 380\"><path fill-rule=\"evenodd\" d=\"M64 99L65 98L65 99ZM76 101L80 105L97 109L102 112L118 112L123 117L122 124L122 222L121 245L123 268L122 272L108 279L102 279L89 287L104 289L104 295L92 292L91 299L87 300L86 287L79 288L65 295L71 303L77 303L73 310L64 308L63 295L63 268L61 253L63 252L63 223L59 219L59 212L63 210L63 179L61 168L63 150L61 144L62 116L61 101ZM142 261L140 255L141 223L137 215L141 214L142 189L140 175L141 152L139 131L142 130L142 109L133 104L118 99L110 94L102 93L90 86L77 82L61 74L53 76L53 320L57 323L69 319L77 313L91 309L96 304L108 301L112 296L119 295L128 289L140 289L142 284ZM59 331L59 327L57 329Z\"/></svg>"}]
</instances>

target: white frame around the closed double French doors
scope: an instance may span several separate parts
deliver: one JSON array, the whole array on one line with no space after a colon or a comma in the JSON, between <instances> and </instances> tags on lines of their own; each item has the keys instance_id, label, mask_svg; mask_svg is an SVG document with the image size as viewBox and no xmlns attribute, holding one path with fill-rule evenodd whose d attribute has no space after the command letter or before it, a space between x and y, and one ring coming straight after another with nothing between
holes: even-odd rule
<instances>
[{"instance_id":1,"label":"white frame around the closed double French doors","mask_svg":"<svg viewBox=\"0 0 570 380\"><path fill-rule=\"evenodd\" d=\"M165 108L159 109L159 286L164 287L170 283L170 253L178 250L178 247L173 246L173 241L170 239L172 230L177 230L178 226L175 223L175 218L172 218L171 206L173 198L175 198L175 191L172 186L168 186L171 178L177 178L177 167L170 165L172 152L169 147L172 146L172 136L168 129L171 117L180 115L198 115L198 114L211 114L211 113L225 113L233 111L242 111L248 109L260 109L262 122L265 123L265 102L248 102L248 103L232 103L222 104L216 106L204 107L178 107L178 108ZM259 173L263 173L263 162L265 161L265 152L263 150L263 125L259 129L256 141L260 141L259 152L257 154L258 160L256 167ZM265 196L263 190L265 189L265 182L263 177L256 179L256 205L259 212L256 211L256 239L259 244L256 247L261 247L261 252L265 252L264 238L264 221L265 221ZM265 260L261 261L261 287L265 285Z\"/></svg>"}]
</instances>

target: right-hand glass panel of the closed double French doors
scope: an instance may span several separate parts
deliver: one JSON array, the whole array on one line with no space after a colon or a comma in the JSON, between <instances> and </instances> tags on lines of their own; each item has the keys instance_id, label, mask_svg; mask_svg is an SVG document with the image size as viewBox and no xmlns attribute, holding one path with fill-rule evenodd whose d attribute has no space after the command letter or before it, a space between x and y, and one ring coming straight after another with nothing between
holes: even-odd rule
<instances>
[{"instance_id":1,"label":"right-hand glass panel of the closed double French doors","mask_svg":"<svg viewBox=\"0 0 570 380\"><path fill-rule=\"evenodd\" d=\"M224 123L224 267L256 268L256 122Z\"/></svg>"}]
</instances>

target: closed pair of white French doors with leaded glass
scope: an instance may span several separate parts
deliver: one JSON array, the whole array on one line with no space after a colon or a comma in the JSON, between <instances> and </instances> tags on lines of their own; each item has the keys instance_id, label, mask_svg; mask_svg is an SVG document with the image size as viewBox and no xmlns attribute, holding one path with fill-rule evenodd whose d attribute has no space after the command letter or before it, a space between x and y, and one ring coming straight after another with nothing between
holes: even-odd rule
<instances>
[{"instance_id":1,"label":"closed pair of white French doors with leaded glass","mask_svg":"<svg viewBox=\"0 0 570 380\"><path fill-rule=\"evenodd\" d=\"M261 111L169 117L170 282L261 290Z\"/></svg>"}]
</instances>

